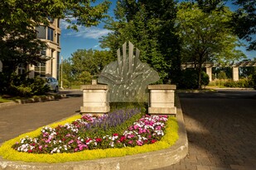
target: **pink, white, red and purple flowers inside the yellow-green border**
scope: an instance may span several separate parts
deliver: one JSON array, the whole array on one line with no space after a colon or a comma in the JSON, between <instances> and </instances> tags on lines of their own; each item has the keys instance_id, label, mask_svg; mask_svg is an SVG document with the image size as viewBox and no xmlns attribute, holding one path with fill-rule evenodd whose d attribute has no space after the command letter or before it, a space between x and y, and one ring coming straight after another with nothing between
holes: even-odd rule
<instances>
[{"instance_id":1,"label":"pink, white, red and purple flowers inside the yellow-green border","mask_svg":"<svg viewBox=\"0 0 256 170\"><path fill-rule=\"evenodd\" d=\"M86 149L142 146L160 140L167 116L142 116L123 130L123 125L138 114L140 110L135 109L104 116L81 116L56 128L43 127L41 135L22 138L12 148L25 153L75 153Z\"/></svg>"}]
</instances>

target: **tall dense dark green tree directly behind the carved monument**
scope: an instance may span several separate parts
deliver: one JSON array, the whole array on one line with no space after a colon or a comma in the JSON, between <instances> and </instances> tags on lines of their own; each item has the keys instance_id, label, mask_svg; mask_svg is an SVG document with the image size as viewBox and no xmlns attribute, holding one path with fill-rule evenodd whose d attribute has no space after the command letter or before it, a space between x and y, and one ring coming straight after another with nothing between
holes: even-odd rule
<instances>
[{"instance_id":1,"label":"tall dense dark green tree directly behind the carved monument","mask_svg":"<svg viewBox=\"0 0 256 170\"><path fill-rule=\"evenodd\" d=\"M116 50L131 41L141 51L142 62L157 70L162 83L175 79L181 70L175 34L176 2L118 0L114 15L105 26L112 32L102 38L101 46L116 56Z\"/></svg>"}]
</instances>

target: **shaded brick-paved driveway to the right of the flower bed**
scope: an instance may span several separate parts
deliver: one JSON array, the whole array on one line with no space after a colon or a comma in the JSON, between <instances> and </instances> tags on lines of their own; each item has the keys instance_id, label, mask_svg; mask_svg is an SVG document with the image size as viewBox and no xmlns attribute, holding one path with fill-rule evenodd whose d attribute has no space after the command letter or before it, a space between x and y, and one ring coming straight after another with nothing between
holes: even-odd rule
<instances>
[{"instance_id":1,"label":"shaded brick-paved driveway to the right of the flower bed","mask_svg":"<svg viewBox=\"0 0 256 170\"><path fill-rule=\"evenodd\" d=\"M179 96L189 155L163 169L256 169L256 91Z\"/></svg>"}]
</instances>

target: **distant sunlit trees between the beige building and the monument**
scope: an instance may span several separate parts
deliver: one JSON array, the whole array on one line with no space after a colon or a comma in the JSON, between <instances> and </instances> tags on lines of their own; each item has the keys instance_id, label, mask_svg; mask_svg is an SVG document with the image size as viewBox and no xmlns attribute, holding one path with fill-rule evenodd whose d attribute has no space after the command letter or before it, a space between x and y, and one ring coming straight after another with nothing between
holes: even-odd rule
<instances>
[{"instance_id":1,"label":"distant sunlit trees between the beige building and the monument","mask_svg":"<svg viewBox=\"0 0 256 170\"><path fill-rule=\"evenodd\" d=\"M62 62L64 86L90 83L112 61L114 57L107 50L76 50L69 59Z\"/></svg>"}]
</instances>

